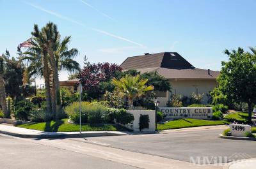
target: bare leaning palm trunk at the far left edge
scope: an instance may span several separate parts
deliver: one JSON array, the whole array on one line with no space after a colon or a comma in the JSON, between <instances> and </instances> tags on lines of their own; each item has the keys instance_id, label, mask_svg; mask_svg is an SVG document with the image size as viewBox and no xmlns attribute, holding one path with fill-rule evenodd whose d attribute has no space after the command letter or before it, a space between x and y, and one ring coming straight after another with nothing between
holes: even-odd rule
<instances>
[{"instance_id":1,"label":"bare leaning palm trunk at the far left edge","mask_svg":"<svg viewBox=\"0 0 256 169\"><path fill-rule=\"evenodd\" d=\"M4 89L4 78L3 78L3 56L0 58L0 103L2 110L4 112L4 118L10 118L10 114L7 111L7 106L6 106L6 94L5 94L5 89Z\"/></svg>"}]
</instances>

